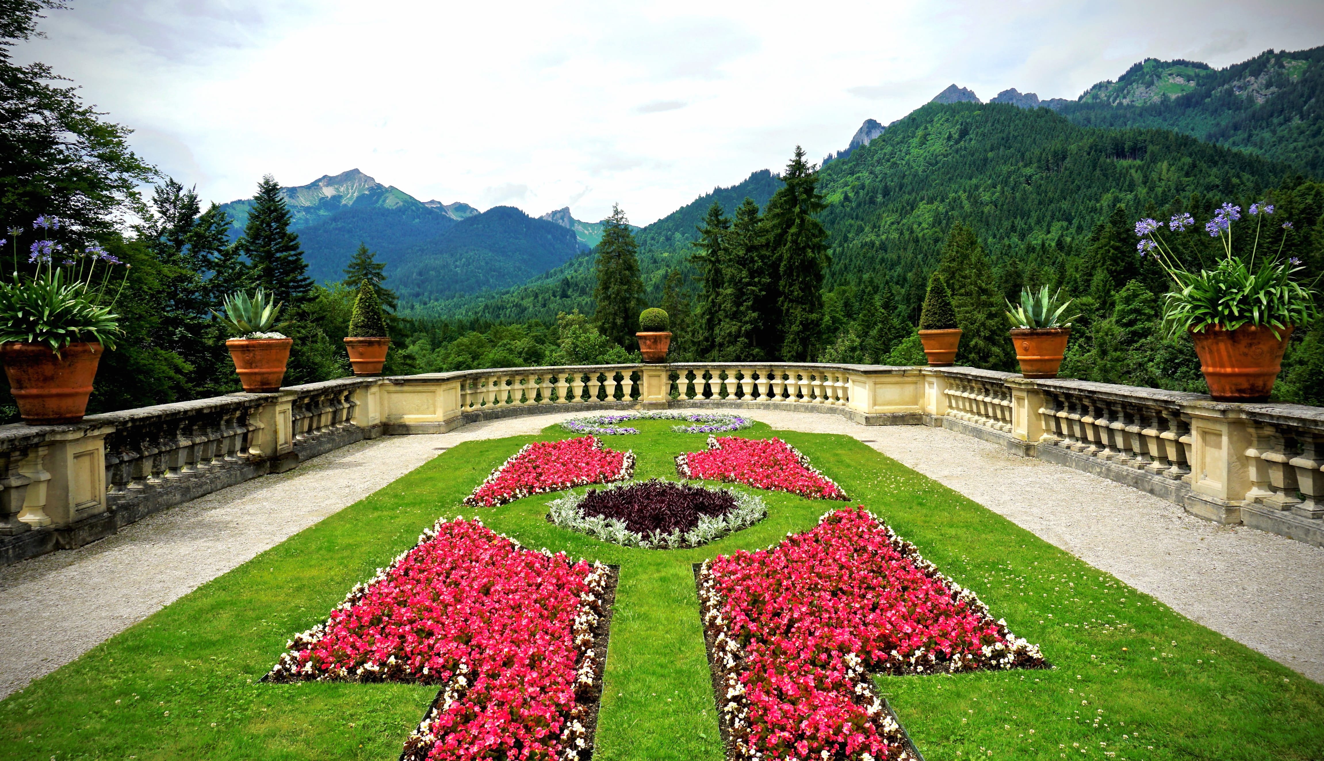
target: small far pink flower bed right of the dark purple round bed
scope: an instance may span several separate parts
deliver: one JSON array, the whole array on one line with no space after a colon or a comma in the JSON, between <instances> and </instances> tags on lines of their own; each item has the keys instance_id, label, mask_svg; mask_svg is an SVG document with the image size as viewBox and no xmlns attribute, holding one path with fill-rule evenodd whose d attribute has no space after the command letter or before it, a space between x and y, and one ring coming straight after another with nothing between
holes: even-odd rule
<instances>
[{"instance_id":1,"label":"small far pink flower bed right of the dark purple round bed","mask_svg":"<svg viewBox=\"0 0 1324 761\"><path fill-rule=\"evenodd\" d=\"M809 458L780 438L708 437L708 449L675 458L685 478L744 483L789 491L808 499L846 499L846 492L818 472Z\"/></svg>"}]
</instances>

